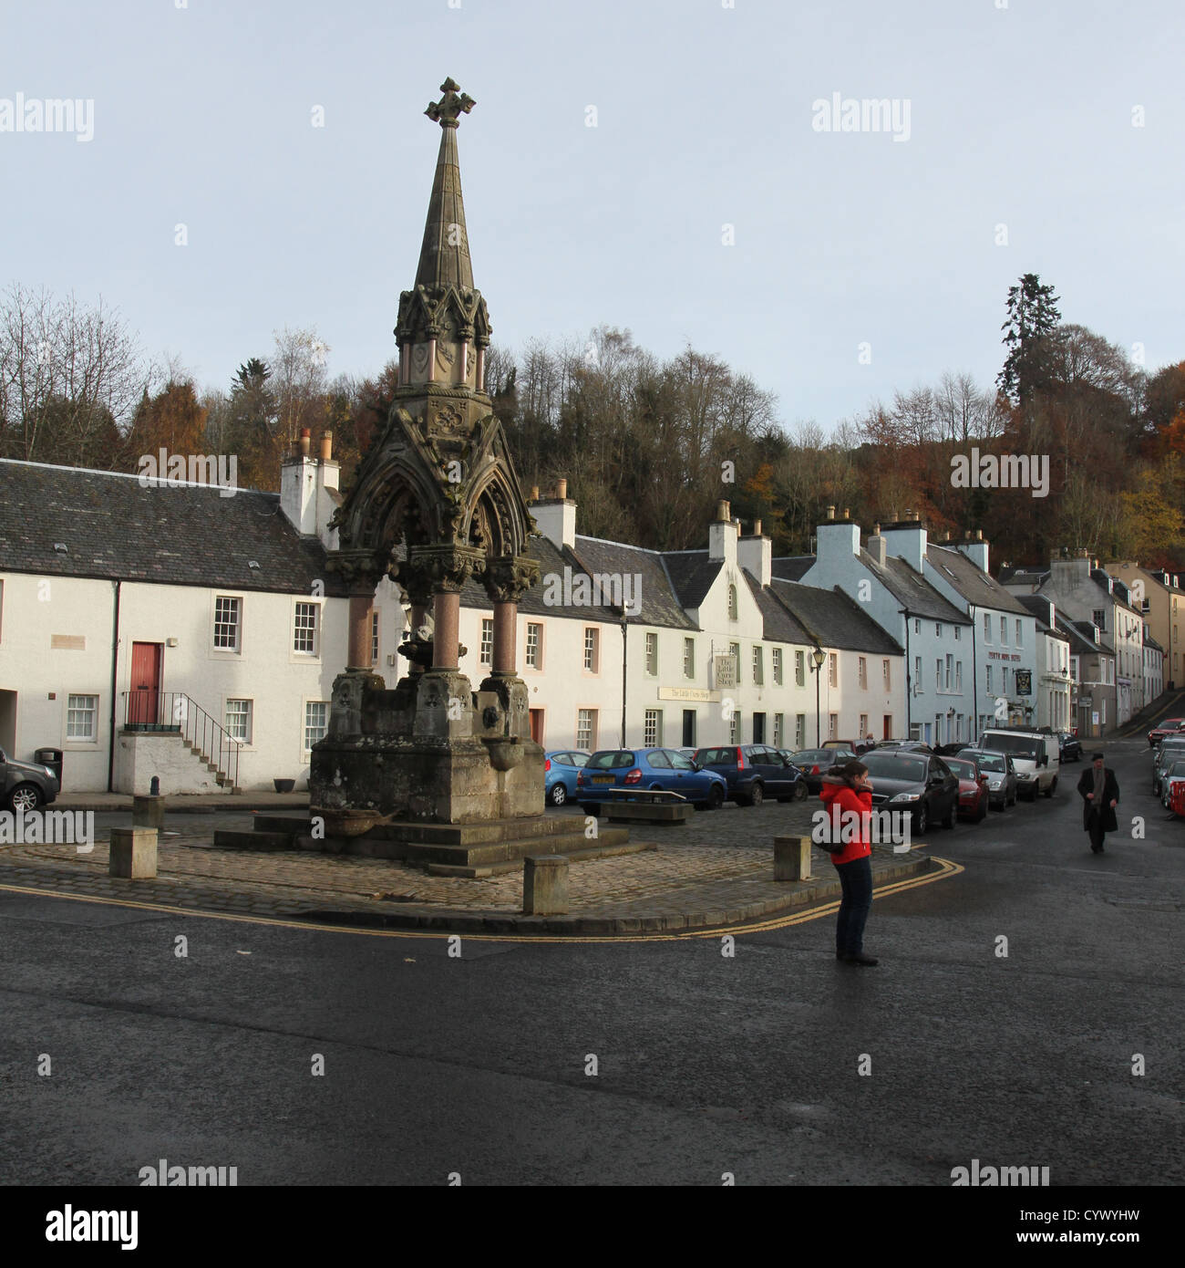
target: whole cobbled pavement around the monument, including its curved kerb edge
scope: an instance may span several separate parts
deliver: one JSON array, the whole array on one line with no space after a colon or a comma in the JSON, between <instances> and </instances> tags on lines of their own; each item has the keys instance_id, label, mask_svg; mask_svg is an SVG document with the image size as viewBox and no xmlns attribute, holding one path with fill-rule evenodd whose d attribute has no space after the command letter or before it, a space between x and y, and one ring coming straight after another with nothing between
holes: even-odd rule
<instances>
[{"instance_id":1,"label":"whole cobbled pavement around the monument, including its curved kerb edge","mask_svg":"<svg viewBox=\"0 0 1185 1268\"><path fill-rule=\"evenodd\" d=\"M131 799L127 808L112 810L98 796L66 795L52 806L96 810L89 852L70 843L0 846L0 888L327 927L589 937L752 926L834 904L840 894L830 857L817 847L811 879L773 880L773 838L809 836L819 808L814 798L725 806L683 825L631 829L631 841L646 842L646 850L570 864L568 914L523 915L517 871L470 880L430 876L387 858L215 848L215 828L251 828L253 814L240 798L233 799L237 814L228 813L226 796L169 798L157 876L109 876L110 829L131 825ZM264 812L300 804L300 794L261 796L267 799L259 806ZM583 822L574 806L548 813ZM874 893L883 893L959 869L914 843L900 855L874 847L872 870Z\"/></svg>"}]
</instances>

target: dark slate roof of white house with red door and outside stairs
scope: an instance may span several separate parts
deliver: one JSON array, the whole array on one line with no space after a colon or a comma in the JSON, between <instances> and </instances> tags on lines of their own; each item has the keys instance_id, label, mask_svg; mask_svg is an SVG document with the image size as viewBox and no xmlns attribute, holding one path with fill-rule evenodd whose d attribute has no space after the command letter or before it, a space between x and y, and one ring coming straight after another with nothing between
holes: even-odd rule
<instances>
[{"instance_id":1,"label":"dark slate roof of white house with red door and outside stairs","mask_svg":"<svg viewBox=\"0 0 1185 1268\"><path fill-rule=\"evenodd\" d=\"M0 569L304 595L319 578L327 595L346 593L279 493L221 497L204 484L11 460L0 460Z\"/></svg>"}]
</instances>

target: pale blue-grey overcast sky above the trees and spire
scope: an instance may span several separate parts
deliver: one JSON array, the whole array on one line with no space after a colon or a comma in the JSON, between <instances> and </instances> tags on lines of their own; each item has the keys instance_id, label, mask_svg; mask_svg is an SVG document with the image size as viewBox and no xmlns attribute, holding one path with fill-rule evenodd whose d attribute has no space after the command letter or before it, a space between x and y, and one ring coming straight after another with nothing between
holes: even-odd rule
<instances>
[{"instance_id":1,"label":"pale blue-grey overcast sky above the trees and spire","mask_svg":"<svg viewBox=\"0 0 1185 1268\"><path fill-rule=\"evenodd\" d=\"M503 346L689 342L830 429L990 384L1035 271L1066 321L1185 358L1180 0L729 3L6 4L0 128L18 94L94 113L89 141L0 131L0 284L101 295L203 387L285 325L376 373L452 76ZM835 94L895 101L891 131L838 131Z\"/></svg>"}]
</instances>

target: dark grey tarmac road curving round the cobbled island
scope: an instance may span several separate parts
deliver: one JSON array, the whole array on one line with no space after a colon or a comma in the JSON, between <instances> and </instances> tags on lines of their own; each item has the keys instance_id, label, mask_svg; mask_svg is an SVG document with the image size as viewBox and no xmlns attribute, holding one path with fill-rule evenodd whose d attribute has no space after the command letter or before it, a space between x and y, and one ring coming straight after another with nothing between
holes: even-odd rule
<instances>
[{"instance_id":1,"label":"dark grey tarmac road curving round the cobbled island","mask_svg":"<svg viewBox=\"0 0 1185 1268\"><path fill-rule=\"evenodd\" d=\"M240 1184L949 1186L978 1159L1179 1184L1185 823L1143 739L1106 749L1146 839L1092 856L1071 765L1052 800L932 834L966 870L876 900L876 969L836 965L833 915L731 956L450 956L0 890L0 1175L137 1184L163 1158Z\"/></svg>"}]
</instances>

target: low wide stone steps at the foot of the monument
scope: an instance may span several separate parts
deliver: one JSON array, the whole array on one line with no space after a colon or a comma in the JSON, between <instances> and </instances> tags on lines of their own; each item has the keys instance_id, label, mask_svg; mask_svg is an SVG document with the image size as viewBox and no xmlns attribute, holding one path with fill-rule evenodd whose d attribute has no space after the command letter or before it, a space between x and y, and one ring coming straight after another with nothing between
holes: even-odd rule
<instances>
[{"instance_id":1,"label":"low wide stone steps at the foot of the monument","mask_svg":"<svg viewBox=\"0 0 1185 1268\"><path fill-rule=\"evenodd\" d=\"M541 814L528 819L485 823L390 823L357 837L313 837L309 815L257 814L251 832L219 829L219 850L286 851L398 858L437 876L479 879L520 871L527 855L564 855L573 861L606 858L657 848L631 842L627 828L598 823L597 836L584 836L584 819Z\"/></svg>"}]
</instances>

